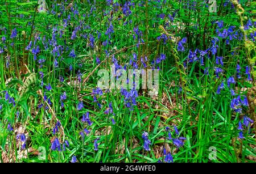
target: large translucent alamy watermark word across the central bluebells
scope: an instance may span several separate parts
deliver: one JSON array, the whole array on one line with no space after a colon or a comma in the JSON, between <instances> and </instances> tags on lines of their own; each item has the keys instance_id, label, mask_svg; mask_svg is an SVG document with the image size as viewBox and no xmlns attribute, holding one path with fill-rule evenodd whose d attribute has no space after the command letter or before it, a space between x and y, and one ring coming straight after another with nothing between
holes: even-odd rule
<instances>
[{"instance_id":1,"label":"large translucent alamy watermark word across the central bluebells","mask_svg":"<svg viewBox=\"0 0 256 174\"><path fill-rule=\"evenodd\" d=\"M98 70L97 85L102 90L133 89L148 90L148 95L158 95L159 70L158 69L117 69L115 65L107 69Z\"/></svg>"}]
</instances>

